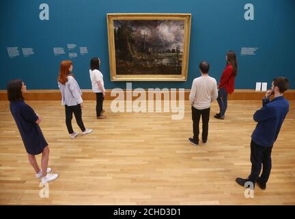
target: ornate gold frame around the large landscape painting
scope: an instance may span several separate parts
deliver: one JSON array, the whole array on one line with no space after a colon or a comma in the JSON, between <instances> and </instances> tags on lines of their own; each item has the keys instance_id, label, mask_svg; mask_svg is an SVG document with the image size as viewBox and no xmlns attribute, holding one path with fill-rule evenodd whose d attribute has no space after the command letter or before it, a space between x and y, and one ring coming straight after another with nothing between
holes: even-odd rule
<instances>
[{"instance_id":1,"label":"ornate gold frame around the large landscape painting","mask_svg":"<svg viewBox=\"0 0 295 219\"><path fill-rule=\"evenodd\" d=\"M114 20L182 20L184 21L184 47L182 75L117 75L115 66ZM191 14L107 14L109 62L111 81L186 81L188 73L188 50L191 34Z\"/></svg>"}]
</instances>

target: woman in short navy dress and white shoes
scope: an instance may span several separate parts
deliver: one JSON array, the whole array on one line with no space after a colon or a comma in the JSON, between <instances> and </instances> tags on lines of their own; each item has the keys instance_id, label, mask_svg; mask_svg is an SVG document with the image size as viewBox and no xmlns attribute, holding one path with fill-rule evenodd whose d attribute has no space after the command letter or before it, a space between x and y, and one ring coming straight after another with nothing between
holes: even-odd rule
<instances>
[{"instance_id":1,"label":"woman in short navy dress and white shoes","mask_svg":"<svg viewBox=\"0 0 295 219\"><path fill-rule=\"evenodd\" d=\"M27 87L20 79L8 83L10 112L23 139L29 162L36 172L36 178L41 178L42 183L48 183L57 179L59 175L50 173L51 168L48 168L49 148L39 127L42 118L25 103L23 92L26 91ZM42 170L40 170L35 157L40 153L42 153Z\"/></svg>"}]
</instances>

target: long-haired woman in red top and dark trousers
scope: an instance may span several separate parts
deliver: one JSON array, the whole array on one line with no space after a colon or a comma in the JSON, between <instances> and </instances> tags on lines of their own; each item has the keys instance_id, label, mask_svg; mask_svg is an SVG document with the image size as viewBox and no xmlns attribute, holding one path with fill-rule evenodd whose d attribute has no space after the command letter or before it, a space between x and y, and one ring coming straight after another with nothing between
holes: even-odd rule
<instances>
[{"instance_id":1,"label":"long-haired woman in red top and dark trousers","mask_svg":"<svg viewBox=\"0 0 295 219\"><path fill-rule=\"evenodd\" d=\"M234 81L238 73L238 64L236 61L236 53L228 51L225 57L227 65L219 82L219 96L217 102L219 103L219 114L214 117L224 119L225 111L227 110L227 95L234 92Z\"/></svg>"}]
</instances>

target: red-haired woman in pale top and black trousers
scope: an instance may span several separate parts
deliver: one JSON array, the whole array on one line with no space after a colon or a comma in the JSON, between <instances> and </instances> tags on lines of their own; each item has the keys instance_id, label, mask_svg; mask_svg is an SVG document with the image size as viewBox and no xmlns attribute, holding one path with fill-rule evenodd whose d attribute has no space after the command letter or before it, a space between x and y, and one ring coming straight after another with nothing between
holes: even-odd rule
<instances>
[{"instance_id":1,"label":"red-haired woman in pale top and black trousers","mask_svg":"<svg viewBox=\"0 0 295 219\"><path fill-rule=\"evenodd\" d=\"M57 78L59 90L61 91L61 105L65 105L66 110L66 126L70 138L74 139L79 135L79 132L72 129L72 114L76 118L76 123L79 125L82 135L92 132L92 129L85 129L82 120L82 92L79 84L74 79L72 72L72 61L61 61L59 69L59 77Z\"/></svg>"}]
</instances>

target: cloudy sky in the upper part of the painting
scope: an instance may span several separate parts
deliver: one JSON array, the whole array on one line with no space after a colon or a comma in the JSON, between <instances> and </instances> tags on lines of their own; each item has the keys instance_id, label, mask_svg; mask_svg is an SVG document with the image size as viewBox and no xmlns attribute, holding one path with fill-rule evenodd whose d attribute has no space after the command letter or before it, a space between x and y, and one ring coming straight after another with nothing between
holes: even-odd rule
<instances>
[{"instance_id":1,"label":"cloudy sky in the upper part of the painting","mask_svg":"<svg viewBox=\"0 0 295 219\"><path fill-rule=\"evenodd\" d=\"M114 27L117 29L124 23L132 27L135 38L143 38L152 44L154 49L164 50L176 49L183 51L184 21L171 20L116 20Z\"/></svg>"}]
</instances>

